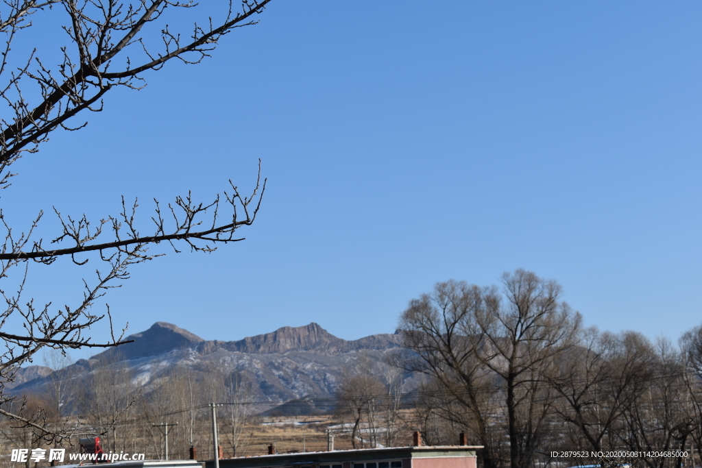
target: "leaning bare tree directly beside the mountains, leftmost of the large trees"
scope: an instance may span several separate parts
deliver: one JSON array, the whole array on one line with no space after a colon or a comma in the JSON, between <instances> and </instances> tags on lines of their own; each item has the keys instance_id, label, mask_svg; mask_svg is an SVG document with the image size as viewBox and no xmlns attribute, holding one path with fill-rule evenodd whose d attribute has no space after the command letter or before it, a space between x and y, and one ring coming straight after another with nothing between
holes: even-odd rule
<instances>
[{"instance_id":1,"label":"leaning bare tree directly beside the mountains, leftmost of the large trees","mask_svg":"<svg viewBox=\"0 0 702 468\"><path fill-rule=\"evenodd\" d=\"M497 412L491 410L497 387L468 336L475 333L473 316L481 303L482 289L463 281L437 283L431 294L411 300L399 323L406 352L397 355L395 363L408 372L428 375L442 389L432 396L442 396L443 403L432 404L434 413L428 415L438 411L465 424L472 441L484 446L480 454L484 467L497 468L501 443L493 442L499 416L496 420ZM460 410L451 410L456 406Z\"/></svg>"}]
</instances>

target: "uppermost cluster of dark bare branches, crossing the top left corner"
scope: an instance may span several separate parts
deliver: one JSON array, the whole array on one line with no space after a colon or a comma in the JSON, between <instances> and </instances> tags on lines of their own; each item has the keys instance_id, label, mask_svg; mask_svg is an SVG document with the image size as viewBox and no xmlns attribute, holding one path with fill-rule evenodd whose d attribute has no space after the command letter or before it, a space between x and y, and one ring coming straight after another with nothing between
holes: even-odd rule
<instances>
[{"instance_id":1,"label":"uppermost cluster of dark bare branches, crossing the top left corner","mask_svg":"<svg viewBox=\"0 0 702 468\"><path fill-rule=\"evenodd\" d=\"M269 1L244 0L239 13L231 1L225 3L218 22L210 18L205 25L195 24L187 35L172 31L164 18L169 10L197 7L187 1L6 1L0 17L0 32L7 38L0 75L4 77L2 97L13 112L1 121L0 167L6 169L23 152L36 152L48 133L69 128L68 122L81 112L102 110L108 91L143 88L145 72L161 69L169 60L201 62L225 34L254 24L253 15ZM32 34L32 19L50 14L62 16L67 35L66 44L59 46L58 67L45 65L36 51L12 60L13 43ZM150 41L150 28L160 30L156 41ZM15 63L23 66L12 67ZM34 85L38 99L27 97L27 81ZM73 128L81 126L84 123ZM5 173L5 182L7 177Z\"/></svg>"}]
</instances>

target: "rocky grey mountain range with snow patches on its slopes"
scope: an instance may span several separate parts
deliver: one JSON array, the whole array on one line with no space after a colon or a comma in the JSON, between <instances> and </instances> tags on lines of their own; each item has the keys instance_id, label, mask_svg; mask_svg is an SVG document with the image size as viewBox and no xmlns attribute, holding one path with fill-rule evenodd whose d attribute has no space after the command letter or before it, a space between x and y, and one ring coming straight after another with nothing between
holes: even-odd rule
<instances>
[{"instance_id":1,"label":"rocky grey mountain range with snow patches on its slopes","mask_svg":"<svg viewBox=\"0 0 702 468\"><path fill-rule=\"evenodd\" d=\"M305 407L309 407L309 412L317 412L323 405L312 402L333 396L347 366L354 366L358 359L383 362L388 353L400 346L399 335L343 340L317 323L286 326L237 341L206 341L171 323L157 322L126 339L134 342L107 349L88 360L81 359L58 372L81 379L95 368L126 366L133 381L147 394L158 385L159 379L168 378L173 368L188 368L206 378L214 366L246 382L250 399L296 402L277 408L279 413ZM44 392L50 372L41 366L23 368L13 392Z\"/></svg>"}]
</instances>

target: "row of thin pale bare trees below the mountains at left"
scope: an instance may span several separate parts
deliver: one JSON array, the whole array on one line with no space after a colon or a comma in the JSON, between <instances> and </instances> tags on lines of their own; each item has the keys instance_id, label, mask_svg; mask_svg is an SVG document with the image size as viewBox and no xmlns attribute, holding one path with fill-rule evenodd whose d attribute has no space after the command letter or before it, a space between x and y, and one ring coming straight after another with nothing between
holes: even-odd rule
<instances>
[{"instance_id":1,"label":"row of thin pale bare trees below the mountains at left","mask_svg":"<svg viewBox=\"0 0 702 468\"><path fill-rule=\"evenodd\" d=\"M249 441L255 421L246 385L220 366L200 370L176 366L155 378L145 375L144 380L151 380L145 386L119 357L101 361L90 373L67 366L67 361L51 364L60 370L49 375L46 391L17 399L14 408L8 408L35 425L0 422L4 466L17 466L9 463L13 448L67 448L76 453L81 437L96 435L101 436L106 453L145 453L147 460L163 460L166 430L168 459L187 460L191 447L197 459L211 459L210 402L229 403L217 409L223 455L265 450Z\"/></svg>"}]
</instances>

